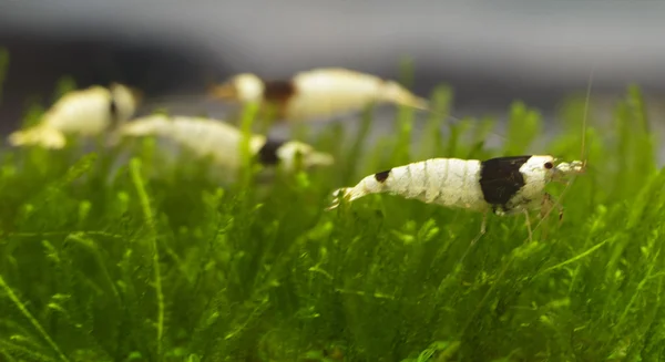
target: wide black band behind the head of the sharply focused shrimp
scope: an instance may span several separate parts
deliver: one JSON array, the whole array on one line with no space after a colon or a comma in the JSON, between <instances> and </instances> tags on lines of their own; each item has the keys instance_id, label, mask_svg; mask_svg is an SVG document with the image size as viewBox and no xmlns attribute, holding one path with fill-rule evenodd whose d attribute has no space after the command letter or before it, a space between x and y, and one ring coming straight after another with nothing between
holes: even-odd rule
<instances>
[{"instance_id":1,"label":"wide black band behind the head of the sharply focused shrimp","mask_svg":"<svg viewBox=\"0 0 665 362\"><path fill-rule=\"evenodd\" d=\"M497 211L497 206L509 211L508 203L524 187L524 176L520 173L520 167L531 156L512 156L481 162L480 188L484 200L492 205L494 211Z\"/></svg>"}]
</instances>

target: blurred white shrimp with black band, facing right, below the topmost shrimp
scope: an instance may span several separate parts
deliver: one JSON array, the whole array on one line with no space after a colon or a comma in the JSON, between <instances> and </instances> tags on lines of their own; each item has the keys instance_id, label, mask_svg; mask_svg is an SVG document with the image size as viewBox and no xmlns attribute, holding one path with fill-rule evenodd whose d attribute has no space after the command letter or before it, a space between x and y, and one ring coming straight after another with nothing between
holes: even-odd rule
<instances>
[{"instance_id":1,"label":"blurred white shrimp with black band, facing right, below the topmost shrimp","mask_svg":"<svg viewBox=\"0 0 665 362\"><path fill-rule=\"evenodd\" d=\"M234 169L242 166L243 133L222 121L153 114L129 122L122 126L120 135L166 137L187 147L200 157L212 156L221 166ZM306 168L328 166L334 162L331 155L316 152L310 145L297 141L278 142L253 134L248 143L250 155L257 157L258 162L264 165L279 163L288 170L295 168L297 155L301 155L303 166Z\"/></svg>"}]
</instances>

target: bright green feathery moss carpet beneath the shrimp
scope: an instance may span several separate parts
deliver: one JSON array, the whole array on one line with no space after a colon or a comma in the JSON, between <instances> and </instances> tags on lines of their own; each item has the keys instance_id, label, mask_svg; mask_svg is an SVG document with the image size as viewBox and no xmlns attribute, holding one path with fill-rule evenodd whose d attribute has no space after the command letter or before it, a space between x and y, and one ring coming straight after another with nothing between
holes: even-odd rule
<instances>
[{"instance_id":1,"label":"bright green feathery moss carpet beneath the shrimp","mask_svg":"<svg viewBox=\"0 0 665 362\"><path fill-rule=\"evenodd\" d=\"M432 96L444 114L449 89ZM583 102L546 144L521 103L509 131L411 114L378 144L315 144L338 164L208 177L186 155L161 167L154 143L119 151L39 148L0 165L0 356L8 361L655 361L665 356L665 172L644 102L631 87L586 133L589 172L565 189L564 220L525 242L522 217L481 216L370 196L324 211L336 187L426 157L548 151L577 158ZM249 130L253 110L243 128ZM488 148L489 132L507 134ZM536 146L533 146L536 145ZM114 165L121 164L120 168ZM561 195L564 185L551 185ZM532 221L535 218L532 219ZM535 226L535 225L534 225ZM462 256L463 261L460 262ZM307 360L308 359L308 360Z\"/></svg>"}]
</instances>

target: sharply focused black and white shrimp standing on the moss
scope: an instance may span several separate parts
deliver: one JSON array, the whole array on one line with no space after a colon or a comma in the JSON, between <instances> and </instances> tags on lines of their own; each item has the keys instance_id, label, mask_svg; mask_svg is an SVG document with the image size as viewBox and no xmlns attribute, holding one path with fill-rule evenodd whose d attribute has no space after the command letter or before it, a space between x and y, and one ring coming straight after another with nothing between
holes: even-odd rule
<instances>
[{"instance_id":1,"label":"sharply focused black and white shrimp standing on the moss","mask_svg":"<svg viewBox=\"0 0 665 362\"><path fill-rule=\"evenodd\" d=\"M483 213L481 234L488 211L515 215L553 206L545 186L553 180L581 174L581 161L560 162L550 155L498 157L487 161L432 158L393 167L362 178L356 186L337 189L328 209L341 198L352 201L370 194L392 194L450 208ZM561 209L560 209L561 213Z\"/></svg>"}]
</instances>

